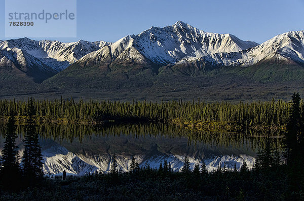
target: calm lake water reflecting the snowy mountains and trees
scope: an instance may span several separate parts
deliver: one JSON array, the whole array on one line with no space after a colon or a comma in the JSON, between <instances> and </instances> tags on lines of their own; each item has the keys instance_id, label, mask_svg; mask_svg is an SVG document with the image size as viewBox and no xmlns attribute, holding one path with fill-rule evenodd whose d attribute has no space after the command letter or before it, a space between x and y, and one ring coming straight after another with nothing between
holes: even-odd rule
<instances>
[{"instance_id":1,"label":"calm lake water reflecting the snowy mountains and trees","mask_svg":"<svg viewBox=\"0 0 304 201\"><path fill-rule=\"evenodd\" d=\"M218 166L240 168L243 159L253 166L258 149L268 140L282 148L282 135L269 132L211 133L192 132L173 125L107 125L102 127L75 125L37 126L44 155L44 172L86 174L96 170L107 172L113 153L119 168L128 171L134 156L140 166L158 168L165 159L175 171L182 167L185 155L192 168L203 161L209 171ZM0 127L0 149L4 144L5 125ZM23 150L24 126L18 126L17 145Z\"/></svg>"}]
</instances>

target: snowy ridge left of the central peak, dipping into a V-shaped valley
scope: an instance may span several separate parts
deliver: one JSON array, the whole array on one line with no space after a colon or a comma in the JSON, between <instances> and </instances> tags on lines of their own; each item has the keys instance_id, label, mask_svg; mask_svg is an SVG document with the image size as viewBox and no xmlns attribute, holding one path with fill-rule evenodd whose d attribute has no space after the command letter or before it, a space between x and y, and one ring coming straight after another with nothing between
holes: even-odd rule
<instances>
[{"instance_id":1,"label":"snowy ridge left of the central peak, dipping into a V-shaped valley","mask_svg":"<svg viewBox=\"0 0 304 201\"><path fill-rule=\"evenodd\" d=\"M86 54L106 45L110 45L110 43L82 40L74 43L61 43L59 41L34 41L29 38L19 38L0 43L0 49L16 47L40 59L45 65L52 67L56 71L61 71Z\"/></svg>"}]
</instances>

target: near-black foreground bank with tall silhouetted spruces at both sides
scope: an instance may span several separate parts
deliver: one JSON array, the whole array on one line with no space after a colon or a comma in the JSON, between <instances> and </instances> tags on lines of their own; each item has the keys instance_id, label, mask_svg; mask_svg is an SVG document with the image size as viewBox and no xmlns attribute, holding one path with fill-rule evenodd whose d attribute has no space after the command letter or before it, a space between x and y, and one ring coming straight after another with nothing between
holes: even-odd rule
<instances>
[{"instance_id":1,"label":"near-black foreground bank with tall silhouetted spruces at both sides","mask_svg":"<svg viewBox=\"0 0 304 201\"><path fill-rule=\"evenodd\" d=\"M267 103L263 103L267 104ZM261 104L261 105L263 105ZM304 199L304 115L298 94L286 104L285 148L271 148L267 141L252 170L246 163L240 171L218 167L208 173L204 164L189 169L184 158L182 172L173 172L164 161L158 170L139 168L133 158L128 173L118 170L112 156L110 173L83 177L42 177L42 158L33 122L27 122L25 152L21 167L15 146L14 114L9 117L0 169L1 200L303 200ZM77 104L75 104L77 105ZM270 104L271 105L271 104ZM288 106L287 106L288 105ZM29 101L29 118L37 107ZM13 110L16 111L16 110ZM245 110L243 110L245 112ZM267 116L270 116L268 112ZM283 114L282 115L286 115ZM11 177L18 176L18 177Z\"/></svg>"}]
</instances>

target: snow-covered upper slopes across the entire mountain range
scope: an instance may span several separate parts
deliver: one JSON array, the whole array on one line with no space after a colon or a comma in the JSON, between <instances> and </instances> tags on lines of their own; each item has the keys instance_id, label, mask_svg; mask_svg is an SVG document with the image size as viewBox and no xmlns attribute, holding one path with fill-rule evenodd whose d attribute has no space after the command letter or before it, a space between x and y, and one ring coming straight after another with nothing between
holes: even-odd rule
<instances>
[{"instance_id":1,"label":"snow-covered upper slopes across the entire mountain range","mask_svg":"<svg viewBox=\"0 0 304 201\"><path fill-rule=\"evenodd\" d=\"M61 43L28 38L0 41L0 49L13 48L37 58L57 72L77 61L82 65L135 63L165 66L203 59L214 65L250 66L275 57L304 63L304 31L286 32L258 45L231 34L204 32L178 21L172 26L151 27L140 34L125 36L113 44L103 41Z\"/></svg>"}]
</instances>

